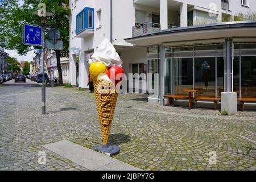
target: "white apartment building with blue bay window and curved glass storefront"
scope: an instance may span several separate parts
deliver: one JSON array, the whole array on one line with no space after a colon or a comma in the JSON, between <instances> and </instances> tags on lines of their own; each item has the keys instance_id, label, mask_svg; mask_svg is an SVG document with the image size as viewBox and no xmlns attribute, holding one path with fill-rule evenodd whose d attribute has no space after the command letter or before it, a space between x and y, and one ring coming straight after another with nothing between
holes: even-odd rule
<instances>
[{"instance_id":1,"label":"white apartment building with blue bay window and curved glass storefront","mask_svg":"<svg viewBox=\"0 0 256 182\"><path fill-rule=\"evenodd\" d=\"M253 18L256 1L71 0L69 6L70 47L77 48L70 51L72 85L79 59L80 87L88 88L88 60L109 38L126 75L159 73L151 102L164 104L164 94L189 88L199 96L256 97L256 22L237 21ZM128 85L148 88L146 80L128 78Z\"/></svg>"}]
</instances>

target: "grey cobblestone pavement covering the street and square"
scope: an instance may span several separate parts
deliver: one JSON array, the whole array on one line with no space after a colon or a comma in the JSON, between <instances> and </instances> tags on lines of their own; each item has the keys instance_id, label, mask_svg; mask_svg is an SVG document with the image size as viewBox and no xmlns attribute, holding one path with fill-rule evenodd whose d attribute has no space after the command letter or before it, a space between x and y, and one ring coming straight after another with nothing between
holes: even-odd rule
<instances>
[{"instance_id":1,"label":"grey cobblestone pavement covering the street and square","mask_svg":"<svg viewBox=\"0 0 256 182\"><path fill-rule=\"evenodd\" d=\"M63 139L89 148L101 143L94 95L47 88L47 114L41 115L40 91L30 80L0 85L0 169L86 170L41 146ZM121 148L114 158L146 170L255 171L256 148L239 136L256 132L255 118L256 111L224 117L119 94L109 142ZM46 152L46 165L38 164L39 151ZM216 164L209 164L210 151L216 151Z\"/></svg>"}]
</instances>

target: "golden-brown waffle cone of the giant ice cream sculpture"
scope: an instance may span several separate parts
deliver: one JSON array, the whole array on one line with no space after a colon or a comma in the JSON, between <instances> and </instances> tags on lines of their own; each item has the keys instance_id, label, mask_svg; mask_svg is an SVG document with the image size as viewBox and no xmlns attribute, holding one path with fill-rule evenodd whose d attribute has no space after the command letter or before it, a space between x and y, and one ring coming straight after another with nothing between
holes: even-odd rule
<instances>
[{"instance_id":1,"label":"golden-brown waffle cone of the giant ice cream sculpture","mask_svg":"<svg viewBox=\"0 0 256 182\"><path fill-rule=\"evenodd\" d=\"M94 95L103 144L108 144L118 93L115 92L115 87L112 82L98 80L94 82Z\"/></svg>"}]
</instances>

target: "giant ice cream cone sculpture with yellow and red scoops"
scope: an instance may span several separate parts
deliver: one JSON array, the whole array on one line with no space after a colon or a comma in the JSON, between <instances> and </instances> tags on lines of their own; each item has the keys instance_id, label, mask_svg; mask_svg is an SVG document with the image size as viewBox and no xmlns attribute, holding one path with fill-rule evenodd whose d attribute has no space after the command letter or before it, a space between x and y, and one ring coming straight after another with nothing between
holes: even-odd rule
<instances>
[{"instance_id":1,"label":"giant ice cream cone sculpture with yellow and red scoops","mask_svg":"<svg viewBox=\"0 0 256 182\"><path fill-rule=\"evenodd\" d=\"M90 76L93 78L102 141L104 146L107 146L118 97L118 92L115 89L115 84L118 81L115 80L115 77L118 73L123 73L122 60L109 40L104 39L92 55L92 59L89 60L89 65ZM98 149L102 149L102 146Z\"/></svg>"}]
</instances>

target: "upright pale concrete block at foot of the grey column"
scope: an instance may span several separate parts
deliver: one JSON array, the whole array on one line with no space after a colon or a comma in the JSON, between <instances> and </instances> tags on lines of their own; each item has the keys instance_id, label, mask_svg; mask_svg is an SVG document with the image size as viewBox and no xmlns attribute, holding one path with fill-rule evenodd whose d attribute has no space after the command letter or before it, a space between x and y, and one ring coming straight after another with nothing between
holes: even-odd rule
<instances>
[{"instance_id":1,"label":"upright pale concrete block at foot of the grey column","mask_svg":"<svg viewBox=\"0 0 256 182\"><path fill-rule=\"evenodd\" d=\"M228 111L228 115L237 114L237 93L221 92L221 113Z\"/></svg>"}]
</instances>

